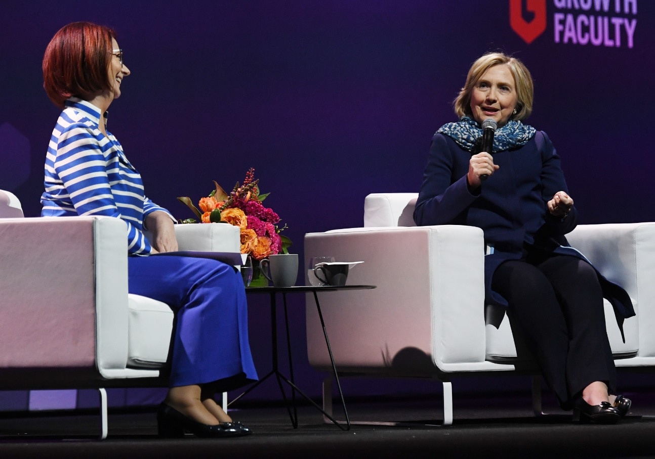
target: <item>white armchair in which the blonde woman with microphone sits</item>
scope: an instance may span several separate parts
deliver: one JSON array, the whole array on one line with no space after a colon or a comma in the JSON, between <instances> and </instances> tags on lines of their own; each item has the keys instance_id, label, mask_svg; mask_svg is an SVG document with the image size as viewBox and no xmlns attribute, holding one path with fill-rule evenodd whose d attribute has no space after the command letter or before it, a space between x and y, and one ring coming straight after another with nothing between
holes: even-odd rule
<instances>
[{"instance_id":1,"label":"white armchair in which the blonde woman with microphone sits","mask_svg":"<svg viewBox=\"0 0 655 459\"><path fill-rule=\"evenodd\" d=\"M415 226L412 215L417 196L367 196L364 228L305 235L305 263L315 256L364 260L348 275L348 284L377 285L374 290L321 299L339 377L437 379L443 383L443 424L447 425L453 420L451 377L475 372L485 376L537 373L534 362L518 360L504 311L485 308L482 230ZM655 223L582 225L569 241L633 299L637 316L624 324L626 343L606 301L616 365L654 366L655 335L649 330L655 326ZM308 298L309 362L329 371L329 356L312 306ZM539 394L540 390L534 393L535 411L540 411ZM330 395L329 388L324 388L327 409Z\"/></svg>"}]
</instances>

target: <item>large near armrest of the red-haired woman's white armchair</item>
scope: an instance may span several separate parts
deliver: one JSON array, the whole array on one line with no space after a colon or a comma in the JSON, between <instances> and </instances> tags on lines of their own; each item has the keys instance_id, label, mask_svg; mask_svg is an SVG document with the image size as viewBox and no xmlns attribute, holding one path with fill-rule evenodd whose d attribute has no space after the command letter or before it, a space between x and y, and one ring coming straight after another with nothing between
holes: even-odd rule
<instances>
[{"instance_id":1,"label":"large near armrest of the red-haired woman's white armchair","mask_svg":"<svg viewBox=\"0 0 655 459\"><path fill-rule=\"evenodd\" d=\"M117 218L0 219L0 368L124 368L126 253Z\"/></svg>"}]
</instances>

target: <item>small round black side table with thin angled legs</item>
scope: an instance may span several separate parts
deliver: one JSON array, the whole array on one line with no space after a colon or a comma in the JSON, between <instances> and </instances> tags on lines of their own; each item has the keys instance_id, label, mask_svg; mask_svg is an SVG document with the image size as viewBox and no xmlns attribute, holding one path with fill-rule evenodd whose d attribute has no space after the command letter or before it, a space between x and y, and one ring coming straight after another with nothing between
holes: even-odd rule
<instances>
[{"instance_id":1,"label":"small round black side table with thin angled legs","mask_svg":"<svg viewBox=\"0 0 655 459\"><path fill-rule=\"evenodd\" d=\"M255 387L259 386L259 384L263 383L266 379L268 379L271 376L275 376L276 379L278 380L278 385L280 386L280 392L282 392L282 398L284 398L284 403L286 404L287 411L289 413L289 417L291 418L291 424L293 425L294 429L298 428L298 413L296 409L296 403L295 403L295 392L298 392L301 396L305 397L309 402L318 409L323 415L331 420L337 427L339 427L341 430L350 430L350 418L348 418L348 411L346 411L346 402L343 400L343 392L341 391L341 384L339 384L339 375L337 374L337 367L335 366L334 363L334 357L332 355L332 349L329 345L329 338L327 337L327 330L326 330L326 325L325 322L323 321L323 314L321 313L321 306L320 303L318 302L318 292L340 292L343 290L365 290L369 288L375 288L375 285L344 285L344 286L331 286L331 285L321 285L321 286L312 286L312 285L297 285L297 286L291 286L291 287L248 287L246 288L246 293L247 294L269 294L271 296L271 341L272 341L272 370L270 373L268 373L265 377L261 378L257 383L253 384L250 386L245 392L243 392L240 396L235 398L233 401L228 403L228 406L234 403L235 401L239 400L248 392L253 390ZM300 390L294 383L293 383L293 362L291 361L291 342L290 342L290 337L289 337L289 316L287 313L287 304L286 304L286 296L287 294L291 293L307 293L307 292L312 292L314 294L314 301L316 302L316 310L318 311L318 317L321 320L321 326L323 328L323 334L326 338L326 345L327 345L327 352L329 352L329 358L330 362L332 364L332 371L334 373L334 378L337 381L337 388L339 388L339 396L341 397L341 405L343 406L343 413L346 417L346 425L344 426L343 424L340 424L335 420L335 418L331 417L331 415L328 415L326 411L320 407L314 400L309 398L305 392ZM284 326L286 328L286 340L287 340L287 352L288 352L288 358L289 358L289 371L290 371L290 378L285 377L280 373L278 370L278 333L277 333L277 307L276 307L276 294L281 293L282 294L282 299L284 301ZM282 387L282 381L285 383L289 384L291 386L291 405L289 403L289 400L287 400L287 396L284 393L284 388ZM291 407L293 407L293 413L291 413Z\"/></svg>"}]
</instances>

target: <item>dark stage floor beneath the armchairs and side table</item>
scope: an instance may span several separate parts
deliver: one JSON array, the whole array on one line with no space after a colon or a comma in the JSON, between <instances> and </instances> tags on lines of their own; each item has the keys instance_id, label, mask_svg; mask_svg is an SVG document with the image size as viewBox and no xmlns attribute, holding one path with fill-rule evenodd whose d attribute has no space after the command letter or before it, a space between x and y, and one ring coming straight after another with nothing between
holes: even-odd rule
<instances>
[{"instance_id":1,"label":"dark stage floor beneath the armchairs and side table","mask_svg":"<svg viewBox=\"0 0 655 459\"><path fill-rule=\"evenodd\" d=\"M244 403L231 411L254 431L234 439L159 439L155 408L109 412L109 437L96 439L100 416L88 411L0 414L0 458L639 458L655 457L655 401L633 398L628 417L613 426L578 425L544 402L534 417L529 394L455 397L453 426L440 422L438 398L346 400L355 424L343 432L300 405L294 429L284 405ZM337 411L337 407L335 407ZM336 414L336 413L335 413ZM337 417L343 418L341 413Z\"/></svg>"}]
</instances>

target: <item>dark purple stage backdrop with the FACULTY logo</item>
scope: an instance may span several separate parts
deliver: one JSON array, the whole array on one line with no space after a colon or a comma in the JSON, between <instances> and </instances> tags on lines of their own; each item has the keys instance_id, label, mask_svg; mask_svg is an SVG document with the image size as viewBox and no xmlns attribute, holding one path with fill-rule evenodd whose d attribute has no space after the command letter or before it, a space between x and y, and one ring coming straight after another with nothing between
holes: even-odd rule
<instances>
[{"instance_id":1,"label":"dark purple stage backdrop with the FACULTY logo","mask_svg":"<svg viewBox=\"0 0 655 459\"><path fill-rule=\"evenodd\" d=\"M132 71L111 106L109 130L147 194L178 218L192 215L176 197L206 196L212 180L231 188L255 167L300 256L305 233L361 226L367 194L417 192L430 138L455 120L451 102L470 63L503 50L533 73L527 122L548 132L561 154L582 223L654 220L655 190L645 184L652 175L646 134L655 2L544 0L534 2L544 10L530 12L518 1L512 16L514 3L1 5L0 188L20 197L27 216L39 214L58 116L43 92L41 59L62 25L90 20L117 31ZM296 373L318 395L323 375L307 364L303 300L291 303ZM250 312L255 364L264 375L265 301L253 297ZM433 388L346 383L350 394ZM272 384L252 397L276 398L277 390Z\"/></svg>"}]
</instances>

